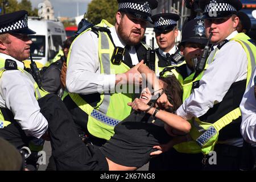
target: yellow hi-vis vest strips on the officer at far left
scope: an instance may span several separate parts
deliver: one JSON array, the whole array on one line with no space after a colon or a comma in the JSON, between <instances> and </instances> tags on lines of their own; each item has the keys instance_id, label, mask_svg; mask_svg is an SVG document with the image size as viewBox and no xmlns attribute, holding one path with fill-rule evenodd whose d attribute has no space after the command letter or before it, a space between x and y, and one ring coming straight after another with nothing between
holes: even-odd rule
<instances>
[{"instance_id":1,"label":"yellow hi-vis vest strips on the officer at far left","mask_svg":"<svg viewBox=\"0 0 256 182\"><path fill-rule=\"evenodd\" d=\"M36 100L39 100L40 98L46 96L48 94L48 92L46 92L45 90L43 89L40 89L38 87L38 84L36 84L34 78L32 77L32 75L30 75L30 73L24 71L24 69L21 69L21 68L18 68L19 71L21 71L22 73L24 73L30 80L31 82L34 84L34 89L35 89L35 97L36 97ZM6 69L5 69L5 59L3 59L2 57L0 57L0 79L3 75L3 72L5 72ZM0 121L3 123L3 127L6 127L8 125L10 125L10 121L6 121L3 114L2 114L2 111L0 109Z\"/></svg>"}]
</instances>

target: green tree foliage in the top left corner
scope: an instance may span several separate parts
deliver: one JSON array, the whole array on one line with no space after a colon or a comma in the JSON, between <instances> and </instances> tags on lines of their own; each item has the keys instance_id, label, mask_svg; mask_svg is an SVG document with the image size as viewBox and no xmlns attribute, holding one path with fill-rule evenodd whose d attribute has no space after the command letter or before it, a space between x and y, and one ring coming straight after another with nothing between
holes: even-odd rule
<instances>
[{"instance_id":1,"label":"green tree foliage in the top left corner","mask_svg":"<svg viewBox=\"0 0 256 182\"><path fill-rule=\"evenodd\" d=\"M22 0L18 3L16 0L0 0L2 14L3 14L3 1L8 2L8 6L5 6L5 13L13 13L14 11L26 10L29 16L38 16L38 9L32 9L31 1Z\"/></svg>"}]
</instances>

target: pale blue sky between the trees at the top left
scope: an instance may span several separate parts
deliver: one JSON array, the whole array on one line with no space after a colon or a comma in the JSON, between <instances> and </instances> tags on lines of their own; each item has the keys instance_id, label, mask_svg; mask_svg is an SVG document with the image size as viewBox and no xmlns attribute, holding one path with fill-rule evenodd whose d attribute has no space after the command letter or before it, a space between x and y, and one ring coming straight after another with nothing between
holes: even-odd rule
<instances>
[{"instance_id":1,"label":"pale blue sky between the trees at the top left","mask_svg":"<svg viewBox=\"0 0 256 182\"><path fill-rule=\"evenodd\" d=\"M20 2L21 0L18 0ZM39 3L44 0L30 0L33 8L38 8ZM92 0L49 0L53 6L55 17L68 16L70 18L77 16L77 3L79 3L79 15L83 15L88 3Z\"/></svg>"}]
</instances>

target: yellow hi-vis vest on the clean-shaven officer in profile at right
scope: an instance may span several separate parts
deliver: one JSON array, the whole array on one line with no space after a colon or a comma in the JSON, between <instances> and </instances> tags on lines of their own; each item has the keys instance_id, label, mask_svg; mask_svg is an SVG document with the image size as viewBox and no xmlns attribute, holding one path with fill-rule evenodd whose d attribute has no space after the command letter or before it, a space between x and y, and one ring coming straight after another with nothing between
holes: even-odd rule
<instances>
[{"instance_id":1,"label":"yellow hi-vis vest on the clean-shaven officer in profile at right","mask_svg":"<svg viewBox=\"0 0 256 182\"><path fill-rule=\"evenodd\" d=\"M230 39L230 41L235 40L236 42L240 43L243 49L246 52L247 60L248 60L248 66L247 66L247 81L246 86L250 80L251 76L251 68L254 68L255 65L255 57L256 57L256 48L253 44L251 44L249 41L250 38L240 33L237 36L235 36L233 39ZM214 60L214 57L216 56L216 53L218 52L218 48L216 48L214 51L212 51L208 57L208 64L212 63ZM205 68L207 69L207 67ZM204 69L204 70L205 70ZM203 73L201 73L196 80L200 80L200 78L203 76ZM192 76L191 76L192 78ZM192 82L188 81L188 85L191 85L191 88L185 90L184 93L186 97L188 97L191 94L192 90L192 84L195 80ZM241 111L240 108L237 107L236 109L230 111L228 114L223 115L218 121L215 121L213 123L208 122L202 122L198 118L193 118L191 121L191 131L189 134L191 135L192 140L184 143L177 144L174 146L174 148L178 152L183 153L189 153L189 154L196 154L202 152L203 154L209 154L210 151L214 150L214 146L218 141L218 135L220 130L229 125L232 121L238 119L241 117ZM238 131L239 132L239 131Z\"/></svg>"}]
</instances>

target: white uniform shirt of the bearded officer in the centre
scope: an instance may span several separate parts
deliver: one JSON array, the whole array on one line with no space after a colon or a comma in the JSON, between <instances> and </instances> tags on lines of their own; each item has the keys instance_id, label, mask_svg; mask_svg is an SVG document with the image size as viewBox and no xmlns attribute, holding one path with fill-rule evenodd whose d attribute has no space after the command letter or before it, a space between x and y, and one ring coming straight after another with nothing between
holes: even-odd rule
<instances>
[{"instance_id":1,"label":"white uniform shirt of the bearded officer in the centre","mask_svg":"<svg viewBox=\"0 0 256 182\"><path fill-rule=\"evenodd\" d=\"M121 42L115 31L115 27L109 29L115 46L125 47L125 43ZM131 46L129 53L133 65L138 64L134 46ZM98 38L94 32L85 32L73 43L66 84L69 92L79 94L108 92L115 88L115 75L104 75L100 72Z\"/></svg>"}]
</instances>

